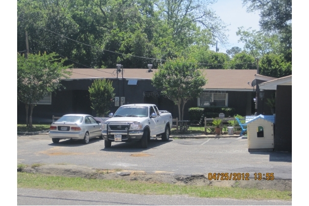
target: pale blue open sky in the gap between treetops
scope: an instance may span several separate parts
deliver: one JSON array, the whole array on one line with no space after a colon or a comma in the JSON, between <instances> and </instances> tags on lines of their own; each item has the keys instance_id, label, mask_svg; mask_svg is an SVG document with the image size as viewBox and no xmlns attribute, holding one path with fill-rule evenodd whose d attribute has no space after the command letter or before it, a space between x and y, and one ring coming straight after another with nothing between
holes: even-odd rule
<instances>
[{"instance_id":1,"label":"pale blue open sky in the gap between treetops","mask_svg":"<svg viewBox=\"0 0 309 206\"><path fill-rule=\"evenodd\" d=\"M238 27L243 26L245 29L252 27L252 29L260 30L259 13L247 13L246 6L242 6L242 0L217 0L216 3L209 5L216 15L226 23L230 24L227 28L230 30L227 32L229 35L229 45L226 47L221 46L218 42L219 52L224 52L226 49L230 49L233 46L238 46L243 49L244 44L238 43L239 36L236 35ZM215 51L215 46L211 47L211 50Z\"/></svg>"}]
</instances>

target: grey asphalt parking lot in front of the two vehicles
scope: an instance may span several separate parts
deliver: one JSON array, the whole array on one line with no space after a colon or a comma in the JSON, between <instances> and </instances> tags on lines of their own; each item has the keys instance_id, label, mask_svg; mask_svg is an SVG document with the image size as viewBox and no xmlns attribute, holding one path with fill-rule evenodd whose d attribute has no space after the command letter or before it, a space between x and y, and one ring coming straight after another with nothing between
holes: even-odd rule
<instances>
[{"instance_id":1,"label":"grey asphalt parking lot in front of the two vehicles","mask_svg":"<svg viewBox=\"0 0 309 206\"><path fill-rule=\"evenodd\" d=\"M18 136L18 163L75 164L97 169L125 169L191 175L206 173L274 173L275 179L292 179L292 154L248 152L247 140L235 137L153 139L147 149L139 143L112 143L94 138L52 143L48 135Z\"/></svg>"}]
</instances>

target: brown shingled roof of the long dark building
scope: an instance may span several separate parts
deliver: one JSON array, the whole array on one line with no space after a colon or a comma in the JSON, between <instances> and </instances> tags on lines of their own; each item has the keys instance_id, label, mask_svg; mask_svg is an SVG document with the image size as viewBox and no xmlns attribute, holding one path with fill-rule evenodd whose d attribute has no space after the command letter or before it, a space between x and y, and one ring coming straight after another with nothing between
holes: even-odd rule
<instances>
[{"instance_id":1,"label":"brown shingled roof of the long dark building","mask_svg":"<svg viewBox=\"0 0 309 206\"><path fill-rule=\"evenodd\" d=\"M72 69L72 75L67 80L73 79L114 79L117 78L116 69ZM123 78L150 80L157 69L148 72L148 69L123 69ZM256 69L202 69L207 79L203 87L206 90L252 91L248 85L255 79ZM122 77L122 73L118 74Z\"/></svg>"}]
</instances>

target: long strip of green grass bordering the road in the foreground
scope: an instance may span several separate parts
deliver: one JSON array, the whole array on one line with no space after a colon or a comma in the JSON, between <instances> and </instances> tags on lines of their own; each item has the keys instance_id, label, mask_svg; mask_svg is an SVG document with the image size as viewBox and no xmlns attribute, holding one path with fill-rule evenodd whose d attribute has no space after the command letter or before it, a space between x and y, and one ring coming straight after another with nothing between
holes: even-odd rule
<instances>
[{"instance_id":1,"label":"long strip of green grass bordering the road in the foreground","mask_svg":"<svg viewBox=\"0 0 309 206\"><path fill-rule=\"evenodd\" d=\"M102 191L152 195L189 195L202 198L276 199L291 200L292 192L277 190L244 189L238 187L216 187L176 185L168 183L128 182L123 180L100 180L43 174L17 173L17 186L24 188Z\"/></svg>"}]
</instances>

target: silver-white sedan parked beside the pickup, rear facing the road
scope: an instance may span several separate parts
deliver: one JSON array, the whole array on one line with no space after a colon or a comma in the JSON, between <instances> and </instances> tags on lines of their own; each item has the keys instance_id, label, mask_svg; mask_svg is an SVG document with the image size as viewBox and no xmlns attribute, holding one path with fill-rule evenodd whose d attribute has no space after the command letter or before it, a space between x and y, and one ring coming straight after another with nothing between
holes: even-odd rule
<instances>
[{"instance_id":1,"label":"silver-white sedan parked beside the pickup, rear facing the road","mask_svg":"<svg viewBox=\"0 0 309 206\"><path fill-rule=\"evenodd\" d=\"M102 138L101 123L88 114L66 114L50 125L48 136L53 143L60 139L83 139L87 144L90 138Z\"/></svg>"}]
</instances>

